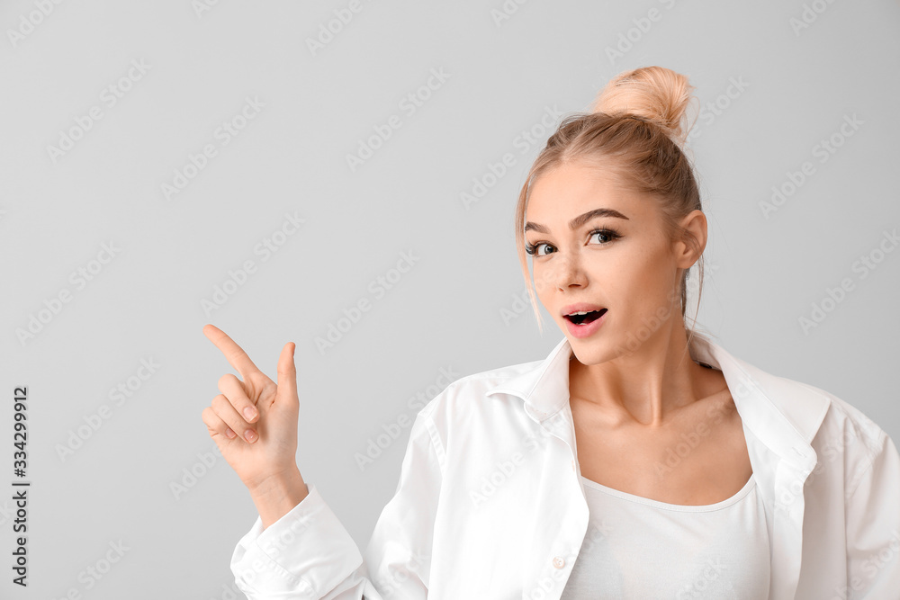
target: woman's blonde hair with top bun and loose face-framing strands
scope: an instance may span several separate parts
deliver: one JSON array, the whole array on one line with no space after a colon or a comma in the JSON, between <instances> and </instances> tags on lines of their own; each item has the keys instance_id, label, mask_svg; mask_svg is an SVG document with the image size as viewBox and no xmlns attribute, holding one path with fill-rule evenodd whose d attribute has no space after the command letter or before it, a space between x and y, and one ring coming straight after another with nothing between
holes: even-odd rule
<instances>
[{"instance_id":1,"label":"woman's blonde hair with top bun and loose face-framing strands","mask_svg":"<svg viewBox=\"0 0 900 600\"><path fill-rule=\"evenodd\" d=\"M693 90L688 77L664 67L640 67L620 73L600 91L590 112L577 112L563 119L535 159L518 194L516 246L542 333L525 252L525 211L536 178L576 161L602 165L598 168L607 169L618 184L658 201L665 233L672 243L680 238L697 247L698 240L678 223L691 210L702 210L694 170L683 149L693 125L693 121L688 123L687 115ZM703 255L698 259L698 268L702 289ZM680 282L682 318L687 309L689 271L684 270ZM691 327L689 343L693 335Z\"/></svg>"}]
</instances>

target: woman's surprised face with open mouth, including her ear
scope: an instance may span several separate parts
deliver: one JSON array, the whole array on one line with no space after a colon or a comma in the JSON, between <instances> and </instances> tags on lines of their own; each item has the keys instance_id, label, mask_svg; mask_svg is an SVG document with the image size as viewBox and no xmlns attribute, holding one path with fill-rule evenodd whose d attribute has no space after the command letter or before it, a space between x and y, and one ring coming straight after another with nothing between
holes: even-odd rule
<instances>
[{"instance_id":1,"label":"woman's surprised face with open mouth, including her ear","mask_svg":"<svg viewBox=\"0 0 900 600\"><path fill-rule=\"evenodd\" d=\"M694 210L682 224L696 227L697 219L704 218ZM537 177L525 237L537 296L581 363L630 354L684 327L680 269L698 254L668 241L658 201L621 187L601 167L565 165ZM573 311L590 312L566 317Z\"/></svg>"}]
</instances>

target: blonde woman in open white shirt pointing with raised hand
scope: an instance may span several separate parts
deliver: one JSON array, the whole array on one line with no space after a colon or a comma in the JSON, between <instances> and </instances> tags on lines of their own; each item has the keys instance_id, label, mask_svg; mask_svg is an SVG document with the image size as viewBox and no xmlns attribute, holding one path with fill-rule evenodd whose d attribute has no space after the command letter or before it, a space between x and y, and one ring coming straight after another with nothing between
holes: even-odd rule
<instances>
[{"instance_id":1,"label":"blonde woman in open white shirt pointing with raised hand","mask_svg":"<svg viewBox=\"0 0 900 600\"><path fill-rule=\"evenodd\" d=\"M691 90L628 71L548 140L516 236L563 340L419 411L365 555L296 466L293 344L276 385L204 327L243 377L202 417L259 512L231 560L247 597L900 598L895 443L685 328Z\"/></svg>"}]
</instances>

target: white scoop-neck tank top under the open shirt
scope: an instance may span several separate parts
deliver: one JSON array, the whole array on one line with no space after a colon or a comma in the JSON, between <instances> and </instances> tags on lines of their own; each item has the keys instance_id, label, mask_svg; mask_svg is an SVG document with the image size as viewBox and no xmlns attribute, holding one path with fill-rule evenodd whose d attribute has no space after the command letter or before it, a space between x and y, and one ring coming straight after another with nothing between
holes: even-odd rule
<instances>
[{"instance_id":1,"label":"white scoop-neck tank top under the open shirt","mask_svg":"<svg viewBox=\"0 0 900 600\"><path fill-rule=\"evenodd\" d=\"M590 522L561 600L769 597L769 530L753 476L733 497L703 506L581 481Z\"/></svg>"}]
</instances>

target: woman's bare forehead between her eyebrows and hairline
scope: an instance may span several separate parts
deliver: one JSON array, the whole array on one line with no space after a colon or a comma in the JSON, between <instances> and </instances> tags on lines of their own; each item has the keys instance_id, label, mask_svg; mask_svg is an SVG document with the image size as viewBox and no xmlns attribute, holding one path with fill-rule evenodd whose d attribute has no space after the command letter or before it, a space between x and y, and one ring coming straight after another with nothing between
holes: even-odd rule
<instances>
[{"instance_id":1,"label":"woman's bare forehead between her eyebrows and hairline","mask_svg":"<svg viewBox=\"0 0 900 600\"><path fill-rule=\"evenodd\" d=\"M644 215L652 205L620 184L608 167L590 163L556 166L536 177L528 195L527 221L563 222L587 210L612 208L629 219Z\"/></svg>"}]
</instances>

